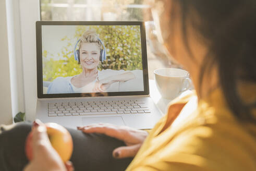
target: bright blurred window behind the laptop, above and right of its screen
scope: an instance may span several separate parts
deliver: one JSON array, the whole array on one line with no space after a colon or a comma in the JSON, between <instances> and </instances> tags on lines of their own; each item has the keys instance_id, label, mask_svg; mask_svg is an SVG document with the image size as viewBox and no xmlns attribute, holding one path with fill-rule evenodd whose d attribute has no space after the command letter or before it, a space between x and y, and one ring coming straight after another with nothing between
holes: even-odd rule
<instances>
[{"instance_id":1,"label":"bright blurred window behind the laptop, above and right of its screen","mask_svg":"<svg viewBox=\"0 0 256 171\"><path fill-rule=\"evenodd\" d=\"M170 67L154 34L154 22L147 0L41 0L41 20L147 21L149 78L154 69Z\"/></svg>"}]
</instances>

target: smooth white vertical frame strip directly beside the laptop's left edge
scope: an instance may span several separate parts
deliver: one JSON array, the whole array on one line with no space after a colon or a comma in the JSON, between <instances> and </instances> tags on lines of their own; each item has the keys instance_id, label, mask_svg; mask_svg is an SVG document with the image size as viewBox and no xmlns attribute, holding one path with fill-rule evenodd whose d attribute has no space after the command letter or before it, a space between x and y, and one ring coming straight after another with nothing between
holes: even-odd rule
<instances>
[{"instance_id":1,"label":"smooth white vertical frame strip directly beside the laptop's left edge","mask_svg":"<svg viewBox=\"0 0 256 171\"><path fill-rule=\"evenodd\" d=\"M40 20L39 0L20 0L20 28L26 120L33 121L36 108L35 21Z\"/></svg>"}]
</instances>

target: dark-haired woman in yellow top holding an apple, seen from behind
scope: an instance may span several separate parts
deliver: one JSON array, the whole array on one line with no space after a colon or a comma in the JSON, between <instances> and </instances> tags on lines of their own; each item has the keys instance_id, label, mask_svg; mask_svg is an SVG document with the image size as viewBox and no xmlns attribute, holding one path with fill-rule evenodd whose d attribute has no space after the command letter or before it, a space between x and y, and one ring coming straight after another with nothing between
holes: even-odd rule
<instances>
[{"instance_id":1,"label":"dark-haired woman in yellow top holding an apple, seen from behind","mask_svg":"<svg viewBox=\"0 0 256 171\"><path fill-rule=\"evenodd\" d=\"M163 0L154 7L159 40L190 72L196 91L170 103L149 135L108 124L79 127L83 135L69 130L75 142L74 167L123 170L131 160L127 157L134 157L127 170L256 170L256 2ZM177 123L182 109L189 108L195 98L196 111ZM45 169L65 169L49 145L44 125L35 125L39 125L33 129L39 136L34 146L44 142L44 153L36 152L51 156ZM4 131L0 143L14 129ZM97 148L93 142L99 143ZM112 150L115 158L123 159L115 161L109 155ZM6 160L3 154L0 157L0 162ZM14 162L11 159L6 165ZM95 160L101 166L92 166ZM34 159L25 170L36 170L43 162Z\"/></svg>"}]
</instances>

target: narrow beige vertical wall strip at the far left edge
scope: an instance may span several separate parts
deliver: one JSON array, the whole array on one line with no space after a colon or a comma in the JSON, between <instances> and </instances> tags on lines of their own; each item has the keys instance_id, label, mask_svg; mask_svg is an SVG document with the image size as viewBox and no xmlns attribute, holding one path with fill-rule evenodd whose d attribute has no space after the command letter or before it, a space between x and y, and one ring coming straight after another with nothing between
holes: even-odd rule
<instances>
[{"instance_id":1,"label":"narrow beige vertical wall strip at the far left edge","mask_svg":"<svg viewBox=\"0 0 256 171\"><path fill-rule=\"evenodd\" d=\"M13 117L11 111L10 71L5 1L0 1L0 23L0 124L11 124L13 123Z\"/></svg>"}]
</instances>

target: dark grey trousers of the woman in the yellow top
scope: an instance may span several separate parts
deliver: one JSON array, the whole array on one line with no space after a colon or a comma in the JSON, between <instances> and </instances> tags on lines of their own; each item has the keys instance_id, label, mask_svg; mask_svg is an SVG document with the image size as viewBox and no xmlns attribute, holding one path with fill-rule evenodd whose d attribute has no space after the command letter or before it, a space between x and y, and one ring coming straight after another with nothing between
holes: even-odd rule
<instances>
[{"instance_id":1,"label":"dark grey trousers of the woman in the yellow top","mask_svg":"<svg viewBox=\"0 0 256 171\"><path fill-rule=\"evenodd\" d=\"M22 170L28 160L25 155L25 140L31 131L31 123L0 126L0 170ZM74 151L71 156L75 170L125 170L132 158L115 159L112 152L123 141L100 134L86 134L68 129Z\"/></svg>"}]
</instances>

